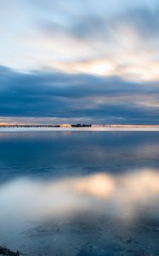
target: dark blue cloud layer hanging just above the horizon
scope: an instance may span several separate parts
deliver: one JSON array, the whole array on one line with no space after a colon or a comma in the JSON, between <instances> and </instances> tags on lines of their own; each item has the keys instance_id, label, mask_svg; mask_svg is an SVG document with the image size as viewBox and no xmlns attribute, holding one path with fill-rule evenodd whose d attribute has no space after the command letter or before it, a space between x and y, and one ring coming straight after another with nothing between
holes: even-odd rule
<instances>
[{"instance_id":1,"label":"dark blue cloud layer hanging just above the horizon","mask_svg":"<svg viewBox=\"0 0 159 256\"><path fill-rule=\"evenodd\" d=\"M157 85L86 74L18 73L0 67L0 116L156 124Z\"/></svg>"}]
</instances>

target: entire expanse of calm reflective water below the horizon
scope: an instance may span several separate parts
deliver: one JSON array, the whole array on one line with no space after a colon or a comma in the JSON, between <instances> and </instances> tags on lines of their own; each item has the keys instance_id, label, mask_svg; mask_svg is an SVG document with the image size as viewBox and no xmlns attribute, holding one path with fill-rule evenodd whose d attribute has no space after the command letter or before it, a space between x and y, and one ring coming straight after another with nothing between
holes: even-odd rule
<instances>
[{"instance_id":1,"label":"entire expanse of calm reflective water below the horizon","mask_svg":"<svg viewBox=\"0 0 159 256\"><path fill-rule=\"evenodd\" d=\"M0 245L159 255L158 170L157 131L0 133Z\"/></svg>"}]
</instances>

